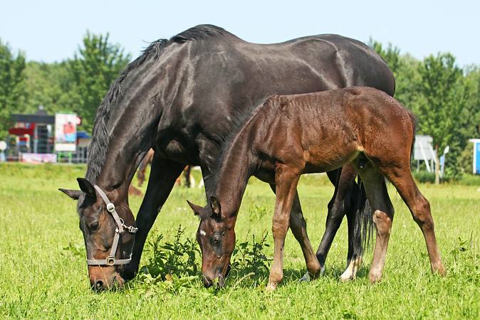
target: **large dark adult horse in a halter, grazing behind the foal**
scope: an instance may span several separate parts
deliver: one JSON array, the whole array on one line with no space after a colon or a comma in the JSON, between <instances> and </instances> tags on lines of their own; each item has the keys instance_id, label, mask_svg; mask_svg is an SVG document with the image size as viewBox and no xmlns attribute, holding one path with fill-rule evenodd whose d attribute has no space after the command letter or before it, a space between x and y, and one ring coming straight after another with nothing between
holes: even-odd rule
<instances>
[{"instance_id":1,"label":"large dark adult horse in a halter, grazing behind the foal","mask_svg":"<svg viewBox=\"0 0 480 320\"><path fill-rule=\"evenodd\" d=\"M202 25L152 43L115 80L98 109L87 173L78 178L81 191L61 189L78 199L92 286L121 285L135 275L147 234L184 166L201 166L207 185L224 138L266 97L353 85L393 95L395 79L375 51L343 36L260 45ZM155 156L137 230L127 190L150 147ZM330 179L341 181L337 174L330 172ZM347 180L343 191L353 195L358 187L352 178ZM355 198L344 196L342 206L333 206L335 198L330 201L317 252L322 267L344 212L353 230L349 212L357 207ZM291 220L293 234L309 244L298 196L292 211L298 217ZM353 245L349 236L348 260Z\"/></svg>"}]
</instances>

